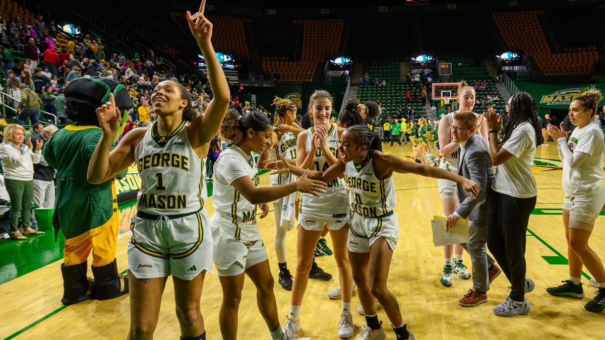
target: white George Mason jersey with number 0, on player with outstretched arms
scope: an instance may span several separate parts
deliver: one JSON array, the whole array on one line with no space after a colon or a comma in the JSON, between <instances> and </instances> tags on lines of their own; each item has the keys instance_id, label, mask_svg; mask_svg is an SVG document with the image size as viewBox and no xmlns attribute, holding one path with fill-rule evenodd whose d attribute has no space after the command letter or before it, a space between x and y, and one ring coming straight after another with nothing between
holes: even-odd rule
<instances>
[{"instance_id":1,"label":"white George Mason jersey with number 0, on player with outstretched arms","mask_svg":"<svg viewBox=\"0 0 605 340\"><path fill-rule=\"evenodd\" d=\"M379 180L374 174L373 150L363 164L347 163L347 182L351 211L364 217L379 217L393 211L397 201L393 176Z\"/></svg>"}]
</instances>

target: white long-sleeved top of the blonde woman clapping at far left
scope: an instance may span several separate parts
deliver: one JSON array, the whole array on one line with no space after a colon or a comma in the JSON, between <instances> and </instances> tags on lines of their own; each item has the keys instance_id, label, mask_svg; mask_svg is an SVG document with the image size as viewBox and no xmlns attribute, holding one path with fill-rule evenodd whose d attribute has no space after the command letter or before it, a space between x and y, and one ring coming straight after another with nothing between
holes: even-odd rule
<instances>
[{"instance_id":1,"label":"white long-sleeved top of the blonde woman clapping at far left","mask_svg":"<svg viewBox=\"0 0 605 340\"><path fill-rule=\"evenodd\" d=\"M42 150L31 151L22 144L21 150L13 143L0 144L0 158L4 178L9 180L31 181L34 178L34 163L40 162Z\"/></svg>"}]
</instances>

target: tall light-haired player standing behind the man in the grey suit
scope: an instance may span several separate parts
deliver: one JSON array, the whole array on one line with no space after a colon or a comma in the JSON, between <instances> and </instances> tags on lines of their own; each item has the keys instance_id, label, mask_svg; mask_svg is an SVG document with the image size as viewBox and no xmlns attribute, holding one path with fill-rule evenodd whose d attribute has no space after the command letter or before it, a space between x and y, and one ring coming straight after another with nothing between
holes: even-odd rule
<instances>
[{"instance_id":1,"label":"tall light-haired player standing behind the man in the grey suit","mask_svg":"<svg viewBox=\"0 0 605 340\"><path fill-rule=\"evenodd\" d=\"M473 87L468 86L464 80L460 82L458 101L460 102L461 111L473 111L473 108L475 107L475 90ZM452 113L448 113L443 116L439 122L439 129L437 129L437 135L439 137L439 152L443 157L439 167L446 169L447 171L454 172L454 174L458 173L460 143L453 141L450 126L452 126L454 116L457 113L458 111L453 111ZM476 114L476 116L478 122L475 133L487 140L488 131L485 122L483 122L484 119L478 114ZM439 185L439 194L441 195L443 216L454 214L456 207L460 204L456 183L447 180L437 180L437 185ZM465 245L460 244L443 246L443 258L445 265L443 266L441 279L439 280L443 286L450 287L452 284L454 284L453 272L456 272L456 274L462 279L466 280L471 278L471 273L469 273L465 264L462 262L463 247L465 247ZM452 258L454 252L456 253L456 256ZM489 254L488 268L489 283L492 283L492 281L494 281L494 279L500 275L502 271L500 270L500 267L494 263L494 259L489 256Z\"/></svg>"}]
</instances>

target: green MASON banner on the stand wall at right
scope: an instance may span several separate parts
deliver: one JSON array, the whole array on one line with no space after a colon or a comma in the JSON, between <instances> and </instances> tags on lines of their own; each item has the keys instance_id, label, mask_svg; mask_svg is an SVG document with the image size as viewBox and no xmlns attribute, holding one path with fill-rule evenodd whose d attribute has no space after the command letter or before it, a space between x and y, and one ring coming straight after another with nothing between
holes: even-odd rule
<instances>
[{"instance_id":1,"label":"green MASON banner on the stand wall at right","mask_svg":"<svg viewBox=\"0 0 605 340\"><path fill-rule=\"evenodd\" d=\"M585 84L551 84L515 81L519 91L525 91L534 96L535 102L539 108L545 109L567 109L569 104L578 94L586 90L590 85L601 90L605 96L605 82L585 83ZM605 99L601 100L598 107L605 104Z\"/></svg>"}]
</instances>

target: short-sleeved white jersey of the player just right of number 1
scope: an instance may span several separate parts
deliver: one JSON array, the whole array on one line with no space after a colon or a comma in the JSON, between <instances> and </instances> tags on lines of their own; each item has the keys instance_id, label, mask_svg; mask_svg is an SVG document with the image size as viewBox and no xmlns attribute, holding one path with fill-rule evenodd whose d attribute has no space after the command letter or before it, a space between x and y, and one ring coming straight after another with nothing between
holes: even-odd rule
<instances>
[{"instance_id":1,"label":"short-sleeved white jersey of the player just right of number 1","mask_svg":"<svg viewBox=\"0 0 605 340\"><path fill-rule=\"evenodd\" d=\"M243 176L250 177L258 186L258 168L252 154L246 154L237 145L229 145L218 156L214 165L215 215L230 221L222 223L221 232L241 241L260 238L257 227L257 205L250 203L231 184ZM213 217L214 218L214 217Z\"/></svg>"}]
</instances>

